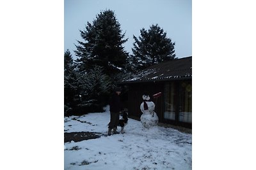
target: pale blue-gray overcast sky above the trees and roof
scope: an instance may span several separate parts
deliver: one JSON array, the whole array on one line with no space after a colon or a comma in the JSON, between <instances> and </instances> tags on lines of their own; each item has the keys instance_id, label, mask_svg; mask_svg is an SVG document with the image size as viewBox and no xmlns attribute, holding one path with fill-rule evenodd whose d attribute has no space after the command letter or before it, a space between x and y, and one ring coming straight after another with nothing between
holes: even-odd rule
<instances>
[{"instance_id":1,"label":"pale blue-gray overcast sky above the trees and roof","mask_svg":"<svg viewBox=\"0 0 256 170\"><path fill-rule=\"evenodd\" d=\"M113 10L128 41L123 45L132 54L133 35L140 36L140 29L148 30L158 24L175 42L176 57L192 55L192 2L191 0L65 0L64 1L64 51L76 58L80 30L87 22L92 24L100 11Z\"/></svg>"}]
</instances>

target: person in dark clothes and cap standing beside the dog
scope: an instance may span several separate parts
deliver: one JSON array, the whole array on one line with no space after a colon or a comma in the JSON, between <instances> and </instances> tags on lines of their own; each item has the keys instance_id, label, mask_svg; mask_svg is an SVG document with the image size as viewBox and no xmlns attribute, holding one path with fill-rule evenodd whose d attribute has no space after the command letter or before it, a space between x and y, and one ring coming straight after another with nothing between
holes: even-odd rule
<instances>
[{"instance_id":1,"label":"person in dark clothes and cap standing beside the dog","mask_svg":"<svg viewBox=\"0 0 256 170\"><path fill-rule=\"evenodd\" d=\"M116 131L118 121L119 121L119 113L120 111L124 110L122 103L120 101L121 90L122 89L120 87L116 87L110 99L110 103L109 103L110 122L108 126L108 136L111 135L112 129L113 129L113 134L119 134L119 132Z\"/></svg>"}]
</instances>

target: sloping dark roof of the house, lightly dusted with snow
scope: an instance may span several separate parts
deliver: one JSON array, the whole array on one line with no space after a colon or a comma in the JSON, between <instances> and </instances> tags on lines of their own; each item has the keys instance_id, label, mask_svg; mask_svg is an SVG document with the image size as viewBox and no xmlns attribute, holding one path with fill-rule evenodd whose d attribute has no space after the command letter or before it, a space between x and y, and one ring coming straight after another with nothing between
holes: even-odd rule
<instances>
[{"instance_id":1,"label":"sloping dark roof of the house, lightly dusted with snow","mask_svg":"<svg viewBox=\"0 0 256 170\"><path fill-rule=\"evenodd\" d=\"M124 78L120 83L191 79L192 56L155 64Z\"/></svg>"}]
</instances>

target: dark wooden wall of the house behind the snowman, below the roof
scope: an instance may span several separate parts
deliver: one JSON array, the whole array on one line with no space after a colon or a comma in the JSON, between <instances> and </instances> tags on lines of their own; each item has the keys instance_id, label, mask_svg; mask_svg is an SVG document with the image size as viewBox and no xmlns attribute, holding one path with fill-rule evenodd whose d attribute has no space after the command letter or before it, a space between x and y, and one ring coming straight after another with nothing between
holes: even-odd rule
<instances>
[{"instance_id":1,"label":"dark wooden wall of the house behind the snowman, below the roof","mask_svg":"<svg viewBox=\"0 0 256 170\"><path fill-rule=\"evenodd\" d=\"M166 124L173 124L173 125L180 125L182 127L192 127L190 122L180 122L180 118L182 118L182 108L184 108L184 97L188 97L188 95L184 95L182 85L184 86L184 82L191 83L192 80L175 80L175 81L158 81L158 82L147 82L147 83L129 83L125 85L125 96L124 107L128 108L129 117L137 118L140 120L141 117L141 110L140 104L143 102L142 95L147 92L150 95L151 100L155 103L155 111L159 118L159 122L163 122ZM170 89L170 83L172 83L172 87L175 87L174 90L171 90L169 94L166 91ZM182 89L183 88L183 89ZM162 92L162 95L157 99L153 99L153 94L158 92ZM170 94L171 93L171 94ZM172 95L174 93L175 95ZM175 108L175 118L174 120L170 120L169 118L164 118L164 112L168 109L166 104L170 103L170 99L168 97L172 96L174 100L173 107ZM184 97L181 97L184 96ZM191 102L191 100L188 100ZM186 101L186 103L188 103ZM167 102L167 103L166 103ZM183 105L182 105L183 104ZM166 113L165 113L166 114ZM182 113L184 114L184 113ZM165 116L166 117L166 116Z\"/></svg>"}]
</instances>

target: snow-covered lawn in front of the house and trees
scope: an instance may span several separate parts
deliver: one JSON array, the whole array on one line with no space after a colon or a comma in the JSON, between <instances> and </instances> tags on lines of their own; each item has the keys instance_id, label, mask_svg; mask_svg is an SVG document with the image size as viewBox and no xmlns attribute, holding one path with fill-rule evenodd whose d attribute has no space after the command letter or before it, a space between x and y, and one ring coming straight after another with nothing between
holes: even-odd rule
<instances>
[{"instance_id":1,"label":"snow-covered lawn in front of the house and trees","mask_svg":"<svg viewBox=\"0 0 256 170\"><path fill-rule=\"evenodd\" d=\"M108 107L104 113L65 117L64 129L107 134L109 117ZM140 121L129 118L124 134L65 143L64 168L192 169L191 138L172 128L144 129Z\"/></svg>"}]
</instances>

